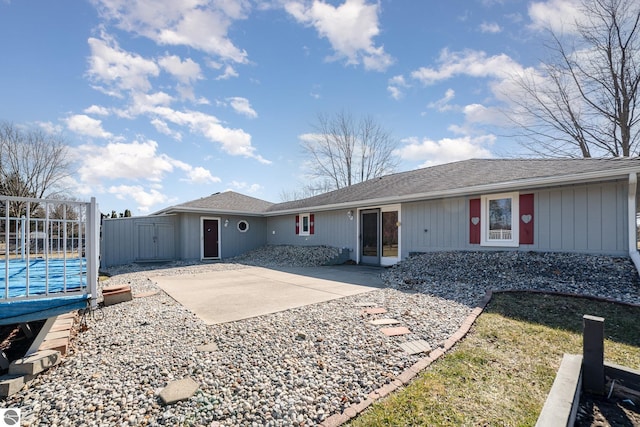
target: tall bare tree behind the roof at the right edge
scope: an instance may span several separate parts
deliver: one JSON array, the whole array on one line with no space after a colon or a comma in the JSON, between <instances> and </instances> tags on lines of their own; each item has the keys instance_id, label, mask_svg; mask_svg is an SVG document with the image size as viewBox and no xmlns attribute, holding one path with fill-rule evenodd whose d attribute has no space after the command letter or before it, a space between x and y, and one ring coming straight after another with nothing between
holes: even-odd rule
<instances>
[{"instance_id":1,"label":"tall bare tree behind the roof at the right edge","mask_svg":"<svg viewBox=\"0 0 640 427\"><path fill-rule=\"evenodd\" d=\"M639 152L640 2L583 0L575 33L549 29L542 74L516 77L509 118L537 154Z\"/></svg>"}]
</instances>

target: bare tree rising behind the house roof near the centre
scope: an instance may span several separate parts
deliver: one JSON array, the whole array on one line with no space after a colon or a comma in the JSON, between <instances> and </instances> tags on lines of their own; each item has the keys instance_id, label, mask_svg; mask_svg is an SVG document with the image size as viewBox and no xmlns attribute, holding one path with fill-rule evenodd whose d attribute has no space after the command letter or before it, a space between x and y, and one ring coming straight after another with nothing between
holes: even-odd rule
<instances>
[{"instance_id":1,"label":"bare tree rising behind the house roof near the centre","mask_svg":"<svg viewBox=\"0 0 640 427\"><path fill-rule=\"evenodd\" d=\"M302 142L308 176L329 190L393 172L398 143L371 116L355 121L345 112L318 115L316 133ZM314 186L309 186L313 190Z\"/></svg>"}]
</instances>

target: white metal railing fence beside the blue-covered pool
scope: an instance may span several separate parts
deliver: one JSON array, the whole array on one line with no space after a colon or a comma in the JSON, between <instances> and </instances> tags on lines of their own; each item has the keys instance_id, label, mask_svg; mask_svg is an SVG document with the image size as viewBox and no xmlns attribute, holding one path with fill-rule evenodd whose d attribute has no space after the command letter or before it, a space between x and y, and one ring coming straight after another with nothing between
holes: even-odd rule
<instances>
[{"instance_id":1,"label":"white metal railing fence beside the blue-covered pool","mask_svg":"<svg viewBox=\"0 0 640 427\"><path fill-rule=\"evenodd\" d=\"M80 293L89 294L95 305L99 215L94 198L0 195L0 302ZM16 296L20 282L25 289Z\"/></svg>"}]
</instances>

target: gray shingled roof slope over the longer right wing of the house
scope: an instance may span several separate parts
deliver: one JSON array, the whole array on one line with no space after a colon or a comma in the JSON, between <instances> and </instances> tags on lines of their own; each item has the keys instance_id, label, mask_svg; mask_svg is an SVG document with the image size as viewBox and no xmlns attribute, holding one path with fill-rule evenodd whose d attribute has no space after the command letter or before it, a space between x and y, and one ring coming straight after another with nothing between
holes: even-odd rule
<instances>
[{"instance_id":1,"label":"gray shingled roof slope over the longer right wing of the house","mask_svg":"<svg viewBox=\"0 0 640 427\"><path fill-rule=\"evenodd\" d=\"M482 191L498 184L515 189L550 181L581 182L605 175L623 176L632 170L640 172L640 159L471 159L386 175L307 199L277 203L267 212L381 199L408 201L412 196L442 197L447 193Z\"/></svg>"}]
</instances>

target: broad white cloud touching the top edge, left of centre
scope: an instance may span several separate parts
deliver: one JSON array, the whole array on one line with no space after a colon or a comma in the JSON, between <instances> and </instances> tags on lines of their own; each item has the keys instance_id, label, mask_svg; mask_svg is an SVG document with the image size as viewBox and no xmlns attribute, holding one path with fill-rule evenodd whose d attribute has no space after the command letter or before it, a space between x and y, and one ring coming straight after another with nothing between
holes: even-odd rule
<instances>
[{"instance_id":1,"label":"broad white cloud touching the top edge, left of centre","mask_svg":"<svg viewBox=\"0 0 640 427\"><path fill-rule=\"evenodd\" d=\"M250 10L248 0L130 1L95 0L102 15L132 33L158 44L188 46L225 60L246 63L247 53L228 37L235 20Z\"/></svg>"}]
</instances>

